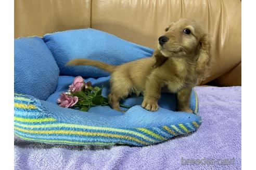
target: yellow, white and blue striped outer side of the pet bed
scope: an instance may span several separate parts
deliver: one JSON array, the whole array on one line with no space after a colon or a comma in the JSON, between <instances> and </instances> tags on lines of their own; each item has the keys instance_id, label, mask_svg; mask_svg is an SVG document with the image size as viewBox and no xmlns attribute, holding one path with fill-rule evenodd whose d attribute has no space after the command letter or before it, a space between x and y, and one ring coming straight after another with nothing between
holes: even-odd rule
<instances>
[{"instance_id":1,"label":"yellow, white and blue striped outer side of the pet bed","mask_svg":"<svg viewBox=\"0 0 256 170\"><path fill-rule=\"evenodd\" d=\"M21 94L15 95L14 108L17 136L51 144L147 146L195 131L201 124L194 121L157 127L114 128L63 123L45 114L39 101Z\"/></svg>"}]
</instances>

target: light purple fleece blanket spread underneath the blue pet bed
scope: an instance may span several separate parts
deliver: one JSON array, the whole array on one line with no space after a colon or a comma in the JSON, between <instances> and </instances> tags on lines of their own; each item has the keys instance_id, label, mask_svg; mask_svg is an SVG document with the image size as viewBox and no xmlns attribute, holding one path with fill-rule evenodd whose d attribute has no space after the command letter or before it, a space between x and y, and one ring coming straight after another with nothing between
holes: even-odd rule
<instances>
[{"instance_id":1,"label":"light purple fleece blanket spread underneath the blue pet bed","mask_svg":"<svg viewBox=\"0 0 256 170\"><path fill-rule=\"evenodd\" d=\"M241 169L241 87L197 87L202 125L148 147L39 144L15 137L15 169Z\"/></svg>"}]
</instances>

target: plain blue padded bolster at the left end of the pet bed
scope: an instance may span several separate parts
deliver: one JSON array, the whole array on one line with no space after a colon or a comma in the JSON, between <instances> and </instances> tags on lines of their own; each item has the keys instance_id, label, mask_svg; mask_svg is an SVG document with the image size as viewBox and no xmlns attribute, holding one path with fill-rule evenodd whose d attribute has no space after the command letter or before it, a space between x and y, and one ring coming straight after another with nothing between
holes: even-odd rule
<instances>
[{"instance_id":1,"label":"plain blue padded bolster at the left end of the pet bed","mask_svg":"<svg viewBox=\"0 0 256 170\"><path fill-rule=\"evenodd\" d=\"M41 100L57 86L59 68L53 54L40 37L14 40L14 91Z\"/></svg>"}]
</instances>

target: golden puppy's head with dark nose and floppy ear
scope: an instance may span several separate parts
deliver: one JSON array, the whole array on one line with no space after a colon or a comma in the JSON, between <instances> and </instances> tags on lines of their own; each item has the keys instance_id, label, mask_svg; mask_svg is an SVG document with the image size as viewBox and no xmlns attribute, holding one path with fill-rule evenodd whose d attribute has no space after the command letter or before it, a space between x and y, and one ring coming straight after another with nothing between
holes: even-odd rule
<instances>
[{"instance_id":1,"label":"golden puppy's head with dark nose and floppy ear","mask_svg":"<svg viewBox=\"0 0 256 170\"><path fill-rule=\"evenodd\" d=\"M196 21L172 22L158 40L158 50L165 58L189 58L196 63L197 74L204 77L210 63L210 42L208 33Z\"/></svg>"}]
</instances>

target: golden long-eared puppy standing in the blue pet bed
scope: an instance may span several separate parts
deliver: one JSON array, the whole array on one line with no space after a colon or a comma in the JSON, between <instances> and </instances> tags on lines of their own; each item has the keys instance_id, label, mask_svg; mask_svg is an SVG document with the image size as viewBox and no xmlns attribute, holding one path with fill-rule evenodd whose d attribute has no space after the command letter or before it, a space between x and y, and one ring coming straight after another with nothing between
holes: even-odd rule
<instances>
[{"instance_id":1,"label":"golden long-eared puppy standing in the blue pet bed","mask_svg":"<svg viewBox=\"0 0 256 170\"><path fill-rule=\"evenodd\" d=\"M67 65L91 65L111 73L109 104L120 110L119 101L130 93L144 95L142 107L158 110L161 89L176 93L177 111L193 112L190 95L197 82L206 76L210 64L208 34L196 21L172 22L159 37L158 48L151 58L119 66L88 59L74 59Z\"/></svg>"}]
</instances>

